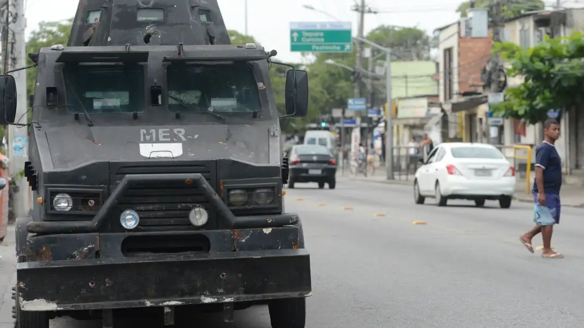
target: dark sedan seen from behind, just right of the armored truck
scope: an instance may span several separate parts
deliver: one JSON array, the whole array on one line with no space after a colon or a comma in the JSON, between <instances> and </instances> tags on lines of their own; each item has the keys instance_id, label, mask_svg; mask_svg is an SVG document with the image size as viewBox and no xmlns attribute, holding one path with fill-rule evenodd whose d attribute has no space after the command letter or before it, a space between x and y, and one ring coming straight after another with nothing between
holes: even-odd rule
<instances>
[{"instance_id":1,"label":"dark sedan seen from behind, just right of the armored truck","mask_svg":"<svg viewBox=\"0 0 584 328\"><path fill-rule=\"evenodd\" d=\"M296 145L290 151L290 178L288 187L294 183L317 182L323 189L328 183L330 189L336 186L336 160L325 146Z\"/></svg>"}]
</instances>

